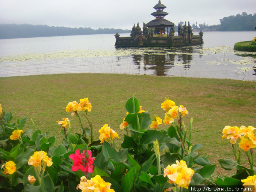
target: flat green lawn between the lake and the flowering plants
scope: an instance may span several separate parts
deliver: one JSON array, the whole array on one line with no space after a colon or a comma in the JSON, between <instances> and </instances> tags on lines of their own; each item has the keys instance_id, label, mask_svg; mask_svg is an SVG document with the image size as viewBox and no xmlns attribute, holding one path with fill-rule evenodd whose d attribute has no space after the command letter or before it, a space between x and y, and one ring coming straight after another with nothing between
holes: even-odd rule
<instances>
[{"instance_id":1,"label":"flat green lawn between the lake and the flowering plants","mask_svg":"<svg viewBox=\"0 0 256 192\"><path fill-rule=\"evenodd\" d=\"M78 119L65 112L68 102L89 98L94 135L108 124L123 139L119 128L126 116L125 102L135 95L143 110L163 118L161 103L165 97L176 105L184 105L193 117L192 143L203 143L200 153L212 163L220 158L232 158L229 141L222 140L226 125L256 127L256 82L226 79L199 79L118 74L61 74L0 78L2 107L18 118L32 118L42 132L49 131L60 142L60 126L56 120L68 117L71 126L80 132ZM10 108L10 109L9 109ZM84 125L88 126L84 120ZM164 125L160 129L167 128ZM26 129L33 129L30 120ZM118 144L118 143L117 143ZM246 159L244 158L244 162ZM220 169L221 171L221 169Z\"/></svg>"}]
</instances>

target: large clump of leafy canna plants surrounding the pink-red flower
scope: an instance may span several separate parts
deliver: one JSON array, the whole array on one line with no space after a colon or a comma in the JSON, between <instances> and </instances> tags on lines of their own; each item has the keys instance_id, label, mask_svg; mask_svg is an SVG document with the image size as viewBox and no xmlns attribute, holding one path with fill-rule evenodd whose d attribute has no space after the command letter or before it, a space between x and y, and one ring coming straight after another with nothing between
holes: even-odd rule
<instances>
[{"instance_id":1,"label":"large clump of leafy canna plants surrounding the pink-red flower","mask_svg":"<svg viewBox=\"0 0 256 192\"><path fill-rule=\"evenodd\" d=\"M63 140L55 143L40 129L23 131L27 118L12 123L12 113L0 105L0 189L5 191L188 191L212 175L216 165L198 154L203 144L193 144L192 121L184 119L188 111L166 99L161 107L164 120L142 110L131 97L125 104L127 116L120 125L126 130L121 146L118 133L108 124L93 135L89 120L92 105L88 98L69 102L71 112L80 122L81 133L72 132L68 118L57 121ZM163 113L164 114L164 113ZM81 118L88 121L89 128ZM164 123L166 128L159 129ZM246 177L242 178L243 181ZM251 180L250 180L251 181Z\"/></svg>"}]
</instances>

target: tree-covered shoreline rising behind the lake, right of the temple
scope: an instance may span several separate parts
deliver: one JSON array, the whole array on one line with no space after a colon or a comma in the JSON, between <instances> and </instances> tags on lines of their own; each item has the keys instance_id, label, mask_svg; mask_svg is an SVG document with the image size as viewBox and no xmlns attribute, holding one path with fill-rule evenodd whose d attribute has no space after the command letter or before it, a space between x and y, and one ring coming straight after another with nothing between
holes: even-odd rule
<instances>
[{"instance_id":1,"label":"tree-covered shoreline rising behind the lake, right of the temple","mask_svg":"<svg viewBox=\"0 0 256 192\"><path fill-rule=\"evenodd\" d=\"M183 23L183 22L182 22ZM199 24L197 26L193 23L193 29L198 30L216 30L216 31L254 31L256 27L256 14L247 14L246 12L242 12L242 15L237 14L236 16L231 15L229 17L224 17L220 19L220 25L206 25Z\"/></svg>"}]
</instances>

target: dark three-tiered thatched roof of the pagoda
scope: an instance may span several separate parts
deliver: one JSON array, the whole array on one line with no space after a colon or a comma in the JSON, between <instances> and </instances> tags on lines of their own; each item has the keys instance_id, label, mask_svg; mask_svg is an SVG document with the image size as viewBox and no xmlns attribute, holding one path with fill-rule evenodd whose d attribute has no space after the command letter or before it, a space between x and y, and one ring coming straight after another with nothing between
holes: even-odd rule
<instances>
[{"instance_id":1,"label":"dark three-tiered thatched roof of the pagoda","mask_svg":"<svg viewBox=\"0 0 256 192\"><path fill-rule=\"evenodd\" d=\"M156 4L153 8L156 9L156 11L151 13L151 15L155 16L155 19L148 22L146 24L147 27L153 28L174 26L174 23L170 22L169 20L163 19L164 16L168 15L168 13L163 11L166 6L161 3L161 0L159 0L158 4Z\"/></svg>"}]
</instances>

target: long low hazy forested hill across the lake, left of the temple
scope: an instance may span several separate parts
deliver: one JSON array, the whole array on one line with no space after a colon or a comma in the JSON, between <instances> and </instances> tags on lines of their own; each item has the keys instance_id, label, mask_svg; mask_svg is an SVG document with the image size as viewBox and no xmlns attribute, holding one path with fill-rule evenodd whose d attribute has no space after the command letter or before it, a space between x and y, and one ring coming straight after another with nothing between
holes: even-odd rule
<instances>
[{"instance_id":1,"label":"long low hazy forested hill across the lake, left of the temple","mask_svg":"<svg viewBox=\"0 0 256 192\"><path fill-rule=\"evenodd\" d=\"M130 33L131 30L99 28L70 28L70 27L50 27L47 25L16 25L16 24L0 24L0 39L10 38L26 38L26 37L50 37L65 35L89 35L89 34L114 34Z\"/></svg>"}]
</instances>

